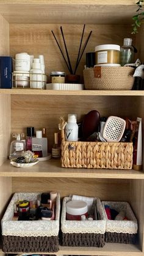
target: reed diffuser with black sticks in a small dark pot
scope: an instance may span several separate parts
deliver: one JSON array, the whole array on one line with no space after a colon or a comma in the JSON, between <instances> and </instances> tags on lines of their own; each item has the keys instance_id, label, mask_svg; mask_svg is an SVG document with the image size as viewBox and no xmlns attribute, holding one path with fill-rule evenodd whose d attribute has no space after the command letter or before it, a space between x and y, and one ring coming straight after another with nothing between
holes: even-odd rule
<instances>
[{"instance_id":1,"label":"reed diffuser with black sticks in a small dark pot","mask_svg":"<svg viewBox=\"0 0 144 256\"><path fill-rule=\"evenodd\" d=\"M87 39L85 40L84 46L82 47L82 40L83 40L83 37L84 37L84 31L85 31L85 24L84 24L84 27L83 27L83 30L82 30L81 41L80 41L80 44L79 44L79 51L78 51L78 54L77 54L76 65L74 67L74 70L71 67L70 56L68 54L68 48L67 48L67 44L65 42L65 37L64 37L64 34L63 34L62 26L60 26L60 32L62 34L63 44L65 46L65 53L67 55L67 60L65 58L65 55L63 54L62 49L60 48L59 42L57 41L57 38L56 38L56 35L54 35L54 32L51 31L52 35L54 36L54 39L56 40L57 46L60 49L60 53L62 54L62 57L65 60L65 64L67 65L68 71L70 72L70 74L67 75L67 82L71 83L71 84L79 84L79 82L80 82L80 76L76 75L76 71L77 71L79 63L80 63L80 61L82 59L82 55L84 54L84 50L85 50L85 48L87 46L88 40L90 39L90 36L92 34L92 31L90 31L90 33L88 34Z\"/></svg>"}]
</instances>

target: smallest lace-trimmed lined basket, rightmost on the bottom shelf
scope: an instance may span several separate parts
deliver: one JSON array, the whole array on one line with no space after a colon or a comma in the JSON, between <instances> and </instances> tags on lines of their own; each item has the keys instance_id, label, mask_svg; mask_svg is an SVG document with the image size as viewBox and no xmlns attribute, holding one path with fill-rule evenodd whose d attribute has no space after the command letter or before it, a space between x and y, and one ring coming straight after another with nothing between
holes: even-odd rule
<instances>
[{"instance_id":1,"label":"smallest lace-trimmed lined basket, rightmost on the bottom shelf","mask_svg":"<svg viewBox=\"0 0 144 256\"><path fill-rule=\"evenodd\" d=\"M109 205L110 208L118 212L124 211L129 221L113 221L107 219L106 211L106 233L105 241L107 243L124 243L134 244L137 241L137 219L128 202L101 202L104 210L104 205Z\"/></svg>"}]
</instances>

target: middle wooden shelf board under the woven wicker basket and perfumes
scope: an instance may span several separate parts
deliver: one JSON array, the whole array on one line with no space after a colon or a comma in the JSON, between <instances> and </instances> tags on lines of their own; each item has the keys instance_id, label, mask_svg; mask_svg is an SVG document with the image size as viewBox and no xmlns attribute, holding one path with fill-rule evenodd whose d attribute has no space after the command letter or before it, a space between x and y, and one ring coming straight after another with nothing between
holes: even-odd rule
<instances>
[{"instance_id":1,"label":"middle wooden shelf board under the woven wicker basket and perfumes","mask_svg":"<svg viewBox=\"0 0 144 256\"><path fill-rule=\"evenodd\" d=\"M62 168L59 160L40 161L27 168L18 168L5 161L0 167L0 177L63 177L63 178L119 178L144 179L144 172L137 170Z\"/></svg>"}]
</instances>

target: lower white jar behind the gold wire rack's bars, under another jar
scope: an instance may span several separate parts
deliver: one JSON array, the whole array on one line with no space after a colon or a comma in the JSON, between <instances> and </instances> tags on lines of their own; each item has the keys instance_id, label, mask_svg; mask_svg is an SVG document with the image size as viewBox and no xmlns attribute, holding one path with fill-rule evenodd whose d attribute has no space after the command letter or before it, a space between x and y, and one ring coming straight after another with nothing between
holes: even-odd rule
<instances>
[{"instance_id":1,"label":"lower white jar behind the gold wire rack's bars, under another jar","mask_svg":"<svg viewBox=\"0 0 144 256\"><path fill-rule=\"evenodd\" d=\"M13 71L13 87L28 88L29 72L27 71Z\"/></svg>"}]
</instances>

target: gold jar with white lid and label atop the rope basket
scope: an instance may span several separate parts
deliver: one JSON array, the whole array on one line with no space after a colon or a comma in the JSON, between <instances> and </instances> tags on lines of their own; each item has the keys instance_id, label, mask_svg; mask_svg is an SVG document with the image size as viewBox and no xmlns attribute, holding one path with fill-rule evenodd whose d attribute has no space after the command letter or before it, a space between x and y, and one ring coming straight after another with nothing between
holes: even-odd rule
<instances>
[{"instance_id":1,"label":"gold jar with white lid and label atop the rope basket","mask_svg":"<svg viewBox=\"0 0 144 256\"><path fill-rule=\"evenodd\" d=\"M120 67L120 45L98 45L95 54L95 67Z\"/></svg>"}]
</instances>

